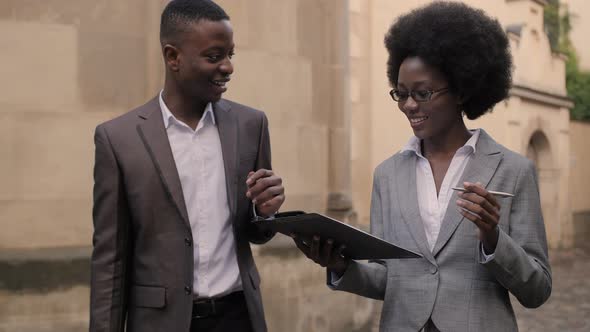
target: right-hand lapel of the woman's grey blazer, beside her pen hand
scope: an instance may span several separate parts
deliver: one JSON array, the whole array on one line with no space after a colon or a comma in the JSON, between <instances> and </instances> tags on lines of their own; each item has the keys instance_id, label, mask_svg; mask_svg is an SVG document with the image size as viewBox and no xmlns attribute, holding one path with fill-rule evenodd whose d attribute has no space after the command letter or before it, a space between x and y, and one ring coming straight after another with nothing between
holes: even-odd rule
<instances>
[{"instance_id":1,"label":"right-hand lapel of the woman's grey blazer, beside her pen hand","mask_svg":"<svg viewBox=\"0 0 590 332\"><path fill-rule=\"evenodd\" d=\"M475 154L473 159L465 167L458 186L462 187L463 182L468 181L473 183L480 182L484 187L487 187L502 160L502 153L498 144L483 129L480 129L480 131ZM447 212L443 218L440 233L432 251L434 256L445 246L464 219L455 205L457 198L458 196L455 192L449 200Z\"/></svg>"}]
</instances>

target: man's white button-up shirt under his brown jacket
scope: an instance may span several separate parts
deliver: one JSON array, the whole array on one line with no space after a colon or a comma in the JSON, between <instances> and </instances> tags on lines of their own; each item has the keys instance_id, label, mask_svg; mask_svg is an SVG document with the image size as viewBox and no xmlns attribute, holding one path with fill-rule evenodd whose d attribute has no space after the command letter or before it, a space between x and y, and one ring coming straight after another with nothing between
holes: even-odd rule
<instances>
[{"instance_id":1,"label":"man's white button-up shirt under his brown jacket","mask_svg":"<svg viewBox=\"0 0 590 332\"><path fill-rule=\"evenodd\" d=\"M210 298L241 290L213 107L207 104L193 130L174 117L161 92L159 99L193 235L193 293L199 298Z\"/></svg>"}]
</instances>

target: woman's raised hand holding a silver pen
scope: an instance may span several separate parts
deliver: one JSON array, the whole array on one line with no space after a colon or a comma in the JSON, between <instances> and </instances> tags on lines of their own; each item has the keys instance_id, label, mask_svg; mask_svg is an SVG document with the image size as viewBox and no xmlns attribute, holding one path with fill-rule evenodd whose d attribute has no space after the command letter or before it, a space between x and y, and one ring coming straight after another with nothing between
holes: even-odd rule
<instances>
[{"instance_id":1,"label":"woman's raised hand holding a silver pen","mask_svg":"<svg viewBox=\"0 0 590 332\"><path fill-rule=\"evenodd\" d=\"M486 254L496 251L498 244L498 223L500 222L500 204L481 183L464 182L466 192L459 192L457 205L461 214L471 220L479 229L479 239Z\"/></svg>"}]
</instances>

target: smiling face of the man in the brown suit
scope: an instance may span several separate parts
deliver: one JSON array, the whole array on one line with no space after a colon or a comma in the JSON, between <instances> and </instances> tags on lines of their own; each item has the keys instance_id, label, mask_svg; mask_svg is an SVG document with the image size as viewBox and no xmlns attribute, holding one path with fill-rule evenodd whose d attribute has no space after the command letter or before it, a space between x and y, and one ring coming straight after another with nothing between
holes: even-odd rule
<instances>
[{"instance_id":1,"label":"smiling face of the man in the brown suit","mask_svg":"<svg viewBox=\"0 0 590 332\"><path fill-rule=\"evenodd\" d=\"M218 101L234 71L233 54L233 30L228 20L191 24L178 46L176 76L182 94L203 103Z\"/></svg>"}]
</instances>

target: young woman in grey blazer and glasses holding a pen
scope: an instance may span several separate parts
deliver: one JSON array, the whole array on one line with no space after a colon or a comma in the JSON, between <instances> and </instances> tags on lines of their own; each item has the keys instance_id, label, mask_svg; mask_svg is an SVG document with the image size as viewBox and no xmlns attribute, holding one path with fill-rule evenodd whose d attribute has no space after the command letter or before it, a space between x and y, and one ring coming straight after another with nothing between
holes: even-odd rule
<instances>
[{"instance_id":1,"label":"young woman in grey blazer and glasses holding a pen","mask_svg":"<svg viewBox=\"0 0 590 332\"><path fill-rule=\"evenodd\" d=\"M516 331L509 293L529 308L551 293L535 168L463 120L508 96L507 37L483 11L437 1L400 17L385 46L414 136L375 170L371 231L423 258L365 263L295 242L330 287L384 301L382 331Z\"/></svg>"}]
</instances>

